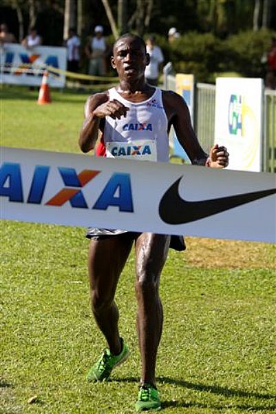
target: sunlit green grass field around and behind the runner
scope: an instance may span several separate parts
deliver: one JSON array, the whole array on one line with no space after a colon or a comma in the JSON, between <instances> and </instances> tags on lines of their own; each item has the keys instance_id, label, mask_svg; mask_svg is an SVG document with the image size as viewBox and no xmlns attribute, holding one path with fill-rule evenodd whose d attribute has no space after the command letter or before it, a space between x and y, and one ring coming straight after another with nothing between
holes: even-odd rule
<instances>
[{"instance_id":1,"label":"sunlit green grass field around and behind the runner","mask_svg":"<svg viewBox=\"0 0 276 414\"><path fill-rule=\"evenodd\" d=\"M1 90L1 145L79 152L87 95ZM140 357L134 256L118 286L128 361L104 384L87 370L105 346L89 308L84 228L1 221L0 413L134 412ZM170 251L160 295L164 413L276 412L275 246L187 238Z\"/></svg>"}]
</instances>

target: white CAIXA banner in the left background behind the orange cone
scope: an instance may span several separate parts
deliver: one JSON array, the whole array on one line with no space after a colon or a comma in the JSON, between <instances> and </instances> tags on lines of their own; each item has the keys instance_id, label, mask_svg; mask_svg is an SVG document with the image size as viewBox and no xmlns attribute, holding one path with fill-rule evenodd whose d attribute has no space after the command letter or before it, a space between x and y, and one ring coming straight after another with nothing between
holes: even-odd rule
<instances>
[{"instance_id":1,"label":"white CAIXA banner in the left background behind the orange cone","mask_svg":"<svg viewBox=\"0 0 276 414\"><path fill-rule=\"evenodd\" d=\"M66 48L52 46L36 46L27 49L24 46L5 43L0 49L1 83L13 85L40 86L43 70L52 66L66 70ZM65 86L65 75L51 73L48 78L53 88Z\"/></svg>"}]
</instances>

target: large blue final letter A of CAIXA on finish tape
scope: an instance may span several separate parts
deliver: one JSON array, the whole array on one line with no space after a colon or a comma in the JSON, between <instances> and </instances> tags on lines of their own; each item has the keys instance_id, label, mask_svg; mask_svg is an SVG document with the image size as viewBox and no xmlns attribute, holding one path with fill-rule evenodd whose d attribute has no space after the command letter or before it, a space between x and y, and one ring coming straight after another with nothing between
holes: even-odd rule
<instances>
[{"instance_id":1,"label":"large blue final letter A of CAIXA on finish tape","mask_svg":"<svg viewBox=\"0 0 276 414\"><path fill-rule=\"evenodd\" d=\"M117 190L119 195L115 197ZM114 173L93 208L107 210L109 206L118 206L119 210L123 212L134 212L129 174L125 172Z\"/></svg>"}]
</instances>

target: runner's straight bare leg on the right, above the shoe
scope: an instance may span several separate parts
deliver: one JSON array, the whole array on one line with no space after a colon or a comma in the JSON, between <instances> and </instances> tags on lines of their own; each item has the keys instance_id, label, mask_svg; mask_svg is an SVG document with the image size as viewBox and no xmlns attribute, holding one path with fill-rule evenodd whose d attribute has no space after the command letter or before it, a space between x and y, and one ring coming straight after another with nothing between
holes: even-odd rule
<instances>
[{"instance_id":1,"label":"runner's straight bare leg on the right, above the shoe","mask_svg":"<svg viewBox=\"0 0 276 414\"><path fill-rule=\"evenodd\" d=\"M160 274L169 251L170 236L142 233L136 239L137 330L142 359L141 382L156 385L155 369L162 334Z\"/></svg>"}]
</instances>

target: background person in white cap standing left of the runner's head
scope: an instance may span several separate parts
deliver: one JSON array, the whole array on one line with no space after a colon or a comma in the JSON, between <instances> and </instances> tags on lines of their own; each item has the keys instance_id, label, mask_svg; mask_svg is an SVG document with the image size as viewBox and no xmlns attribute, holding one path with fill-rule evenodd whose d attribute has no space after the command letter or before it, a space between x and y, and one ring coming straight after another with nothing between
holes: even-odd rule
<instances>
[{"instance_id":1,"label":"background person in white cap standing left of the runner's head","mask_svg":"<svg viewBox=\"0 0 276 414\"><path fill-rule=\"evenodd\" d=\"M103 26L98 25L94 29L94 37L89 37L85 46L85 54L89 59L89 75L104 76L106 74L107 50L107 43L103 37Z\"/></svg>"}]
</instances>

